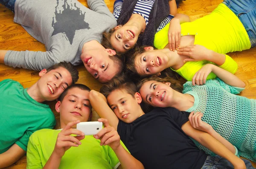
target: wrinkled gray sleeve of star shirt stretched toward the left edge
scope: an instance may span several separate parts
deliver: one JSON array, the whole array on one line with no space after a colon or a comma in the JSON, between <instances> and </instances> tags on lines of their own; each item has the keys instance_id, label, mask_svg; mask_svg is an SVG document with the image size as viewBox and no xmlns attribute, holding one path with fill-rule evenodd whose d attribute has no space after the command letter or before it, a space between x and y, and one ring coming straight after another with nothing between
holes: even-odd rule
<instances>
[{"instance_id":1,"label":"wrinkled gray sleeve of star shirt stretched toward the left edge","mask_svg":"<svg viewBox=\"0 0 256 169\"><path fill-rule=\"evenodd\" d=\"M8 51L4 57L4 64L12 67L19 67L30 70L41 71L59 63L52 51Z\"/></svg>"}]
</instances>

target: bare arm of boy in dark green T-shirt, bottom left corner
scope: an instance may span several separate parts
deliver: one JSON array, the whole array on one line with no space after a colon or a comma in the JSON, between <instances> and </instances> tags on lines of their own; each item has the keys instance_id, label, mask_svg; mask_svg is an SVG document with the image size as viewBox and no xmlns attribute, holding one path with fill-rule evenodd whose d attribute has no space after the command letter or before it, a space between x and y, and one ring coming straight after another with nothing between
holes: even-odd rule
<instances>
[{"instance_id":1,"label":"bare arm of boy in dark green T-shirt, bottom left corner","mask_svg":"<svg viewBox=\"0 0 256 169\"><path fill-rule=\"evenodd\" d=\"M6 152L0 154L0 169L12 165L25 154L20 146L13 144Z\"/></svg>"}]
</instances>

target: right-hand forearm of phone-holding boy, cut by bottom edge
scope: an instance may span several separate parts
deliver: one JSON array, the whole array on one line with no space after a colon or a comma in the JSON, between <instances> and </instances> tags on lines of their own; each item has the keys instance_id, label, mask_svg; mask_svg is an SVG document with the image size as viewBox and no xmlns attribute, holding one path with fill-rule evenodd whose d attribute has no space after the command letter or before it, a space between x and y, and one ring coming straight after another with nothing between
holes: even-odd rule
<instances>
[{"instance_id":1,"label":"right-hand forearm of phone-holding boy, cut by bottom edge","mask_svg":"<svg viewBox=\"0 0 256 169\"><path fill-rule=\"evenodd\" d=\"M113 151L116 153L122 169L144 169L143 164L128 153L121 145Z\"/></svg>"}]
</instances>

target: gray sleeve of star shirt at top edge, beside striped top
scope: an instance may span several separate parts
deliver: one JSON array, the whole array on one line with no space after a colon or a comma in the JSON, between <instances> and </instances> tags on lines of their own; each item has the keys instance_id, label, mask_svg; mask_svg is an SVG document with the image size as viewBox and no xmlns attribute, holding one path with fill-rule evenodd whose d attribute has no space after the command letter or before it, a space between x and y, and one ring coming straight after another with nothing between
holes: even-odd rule
<instances>
[{"instance_id":1,"label":"gray sleeve of star shirt at top edge, beside striped top","mask_svg":"<svg viewBox=\"0 0 256 169\"><path fill-rule=\"evenodd\" d=\"M98 12L100 14L107 14L107 15L113 15L109 9L104 0L87 0L87 4L89 8L95 12Z\"/></svg>"}]
</instances>

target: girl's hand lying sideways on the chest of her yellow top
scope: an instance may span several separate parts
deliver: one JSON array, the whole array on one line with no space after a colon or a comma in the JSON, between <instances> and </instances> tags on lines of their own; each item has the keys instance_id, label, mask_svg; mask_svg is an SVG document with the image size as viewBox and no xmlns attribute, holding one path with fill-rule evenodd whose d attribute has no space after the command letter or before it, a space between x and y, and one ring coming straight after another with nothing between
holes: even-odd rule
<instances>
[{"instance_id":1,"label":"girl's hand lying sideways on the chest of her yellow top","mask_svg":"<svg viewBox=\"0 0 256 169\"><path fill-rule=\"evenodd\" d=\"M201 61L209 60L212 55L212 50L207 49L201 45L191 45L191 46L180 46L178 54L189 56L190 58L184 59L183 62L188 61Z\"/></svg>"}]
</instances>

